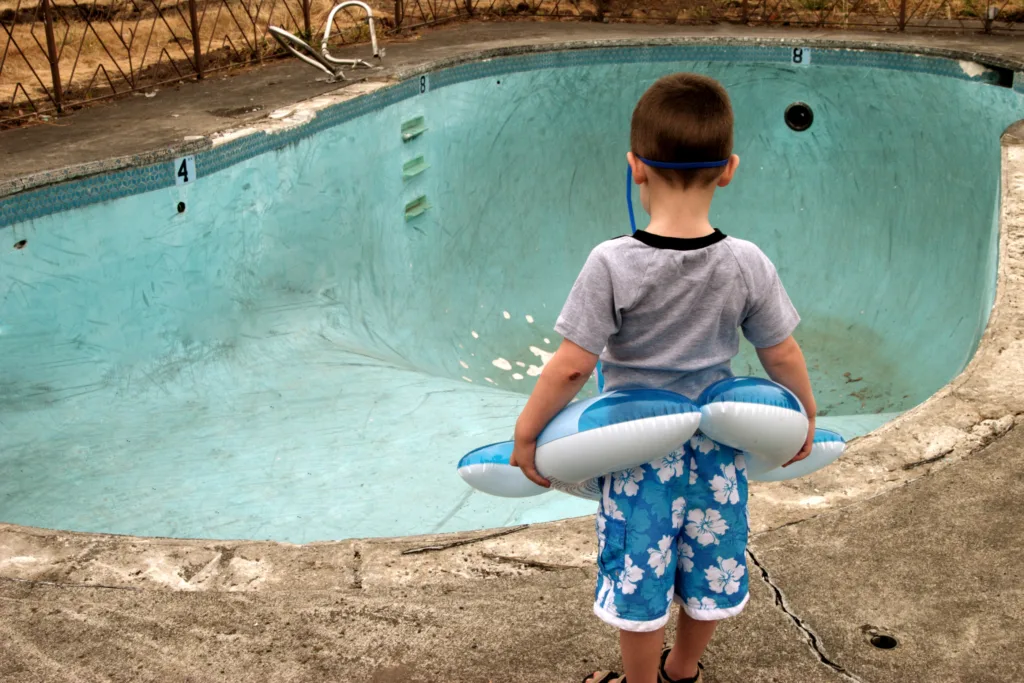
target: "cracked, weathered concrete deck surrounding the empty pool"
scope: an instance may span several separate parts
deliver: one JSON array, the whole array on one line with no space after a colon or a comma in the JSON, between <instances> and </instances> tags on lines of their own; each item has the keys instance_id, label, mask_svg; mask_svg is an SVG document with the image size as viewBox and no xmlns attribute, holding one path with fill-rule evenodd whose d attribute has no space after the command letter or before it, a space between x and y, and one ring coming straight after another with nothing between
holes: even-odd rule
<instances>
[{"instance_id":1,"label":"cracked, weathered concrete deck surrounding the empty pool","mask_svg":"<svg viewBox=\"0 0 1024 683\"><path fill-rule=\"evenodd\" d=\"M890 39L470 25L389 46L389 60L403 74L492 47L701 35ZM961 58L987 53L978 58L990 63L1024 56L1024 44L1009 39L893 44ZM293 85L273 92L267 83L285 74ZM170 154L184 135L258 126L251 117L337 87L313 78L308 67L279 62L87 109L61 120L66 127L6 131L4 177ZM226 92L214 94L221 85ZM211 94L221 99L211 103ZM210 114L252 109L247 97L262 109L242 119ZM858 439L838 465L752 488L754 599L713 643L710 681L1024 678L1024 575L1015 557L1024 545L1024 432L1014 428L1024 415L1024 135L1012 130L1004 142L999 285L978 353L949 386ZM590 615L592 520L488 537L300 547L0 526L0 680L540 682L613 666L615 634ZM899 647L871 647L877 633Z\"/></svg>"}]
</instances>

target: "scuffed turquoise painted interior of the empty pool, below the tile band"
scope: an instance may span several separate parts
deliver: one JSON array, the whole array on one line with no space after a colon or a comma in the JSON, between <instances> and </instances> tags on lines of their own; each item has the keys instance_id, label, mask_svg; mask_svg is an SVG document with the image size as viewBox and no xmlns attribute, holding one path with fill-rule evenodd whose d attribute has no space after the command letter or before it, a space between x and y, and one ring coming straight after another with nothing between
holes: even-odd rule
<instances>
[{"instance_id":1,"label":"scuffed turquoise painted interior of the empty pool, below the tile band","mask_svg":"<svg viewBox=\"0 0 1024 683\"><path fill-rule=\"evenodd\" d=\"M455 463L509 437L587 253L629 230L630 113L673 71L733 97L742 162L713 217L803 313L819 426L863 433L952 378L993 297L1020 95L941 59L643 54L433 74L217 172L201 155L186 187L168 164L139 172L160 188L0 229L0 520L307 542L591 512L474 494Z\"/></svg>"}]
</instances>

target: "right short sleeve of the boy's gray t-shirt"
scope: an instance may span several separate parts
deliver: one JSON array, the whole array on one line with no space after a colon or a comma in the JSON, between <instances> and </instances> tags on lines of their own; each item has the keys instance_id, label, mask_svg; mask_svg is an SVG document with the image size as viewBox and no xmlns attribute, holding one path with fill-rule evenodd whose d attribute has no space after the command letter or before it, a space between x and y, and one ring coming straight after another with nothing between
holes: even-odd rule
<instances>
[{"instance_id":1,"label":"right short sleeve of the boy's gray t-shirt","mask_svg":"<svg viewBox=\"0 0 1024 683\"><path fill-rule=\"evenodd\" d=\"M780 344L800 324L800 314L790 300L775 265L760 250L749 261L746 309L741 324L743 336L756 348Z\"/></svg>"}]
</instances>

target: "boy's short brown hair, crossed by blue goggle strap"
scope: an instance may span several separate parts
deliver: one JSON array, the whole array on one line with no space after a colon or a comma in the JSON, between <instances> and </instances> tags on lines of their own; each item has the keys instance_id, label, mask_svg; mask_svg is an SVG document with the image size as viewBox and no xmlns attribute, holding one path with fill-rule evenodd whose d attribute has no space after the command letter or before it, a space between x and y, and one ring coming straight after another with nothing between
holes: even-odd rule
<instances>
[{"instance_id":1,"label":"boy's short brown hair, crossed by blue goggle strap","mask_svg":"<svg viewBox=\"0 0 1024 683\"><path fill-rule=\"evenodd\" d=\"M732 104L718 81L697 74L658 79L633 110L630 145L663 162L721 161L732 154ZM722 168L651 169L673 184L711 184Z\"/></svg>"}]
</instances>

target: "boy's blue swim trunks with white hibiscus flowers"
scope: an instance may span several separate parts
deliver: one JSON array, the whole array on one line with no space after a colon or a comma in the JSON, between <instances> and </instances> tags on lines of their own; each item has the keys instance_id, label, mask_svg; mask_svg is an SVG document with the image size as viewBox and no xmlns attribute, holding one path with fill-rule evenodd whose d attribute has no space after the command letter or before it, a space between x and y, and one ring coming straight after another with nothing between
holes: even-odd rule
<instances>
[{"instance_id":1,"label":"boy's blue swim trunks with white hibiscus flowers","mask_svg":"<svg viewBox=\"0 0 1024 683\"><path fill-rule=\"evenodd\" d=\"M594 613L627 631L655 631L675 599L695 620L742 611L746 467L697 434L652 463L602 478Z\"/></svg>"}]
</instances>

